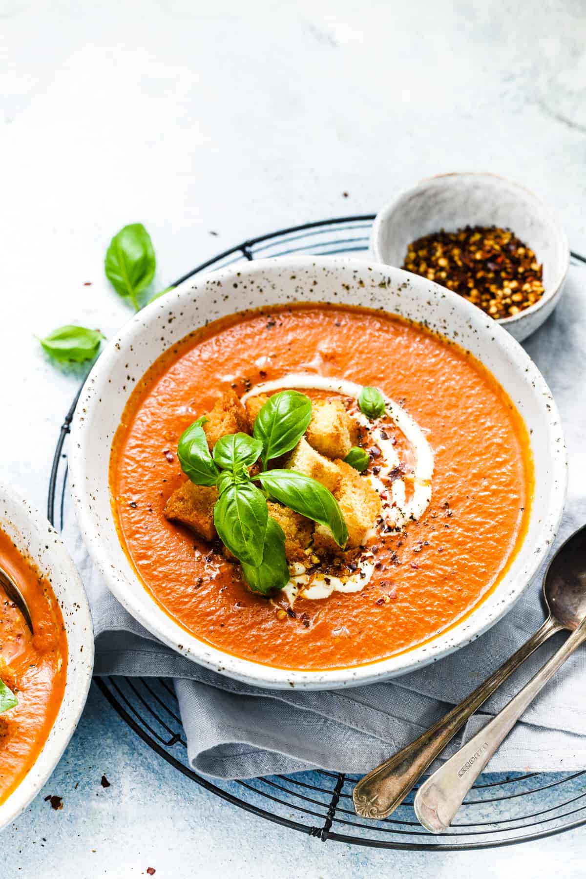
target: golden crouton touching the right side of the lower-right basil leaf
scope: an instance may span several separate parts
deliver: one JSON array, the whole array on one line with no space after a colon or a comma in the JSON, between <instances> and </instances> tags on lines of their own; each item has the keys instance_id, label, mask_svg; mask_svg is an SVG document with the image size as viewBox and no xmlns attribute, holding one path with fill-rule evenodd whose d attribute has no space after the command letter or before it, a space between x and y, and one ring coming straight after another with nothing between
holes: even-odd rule
<instances>
[{"instance_id":1,"label":"golden crouton touching the right side of the lower-right basil leaf","mask_svg":"<svg viewBox=\"0 0 586 879\"><path fill-rule=\"evenodd\" d=\"M368 531L380 516L382 504L373 486L360 476L350 464L344 461L334 462L338 471L338 480L332 494L340 505L346 527L348 528L347 548L362 546ZM315 547L336 550L336 541L332 538L329 528L315 526Z\"/></svg>"}]
</instances>

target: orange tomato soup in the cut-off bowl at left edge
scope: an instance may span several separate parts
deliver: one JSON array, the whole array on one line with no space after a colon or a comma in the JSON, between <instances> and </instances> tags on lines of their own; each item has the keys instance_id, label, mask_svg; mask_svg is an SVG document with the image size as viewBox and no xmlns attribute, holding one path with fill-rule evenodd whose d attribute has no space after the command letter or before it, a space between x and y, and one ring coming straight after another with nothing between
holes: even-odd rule
<instances>
[{"instance_id":1,"label":"orange tomato soup in the cut-off bowl at left edge","mask_svg":"<svg viewBox=\"0 0 586 879\"><path fill-rule=\"evenodd\" d=\"M55 722L67 677L67 636L47 579L0 531L0 565L18 585L34 635L0 584L0 679L18 699L0 714L0 803L18 787Z\"/></svg>"}]
</instances>

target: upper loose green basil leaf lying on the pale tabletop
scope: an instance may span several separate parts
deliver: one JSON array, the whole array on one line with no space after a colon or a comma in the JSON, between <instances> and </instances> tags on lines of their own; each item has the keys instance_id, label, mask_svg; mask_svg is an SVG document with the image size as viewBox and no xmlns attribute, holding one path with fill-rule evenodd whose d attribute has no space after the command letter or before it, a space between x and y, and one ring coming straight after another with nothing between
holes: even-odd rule
<instances>
[{"instance_id":1,"label":"upper loose green basil leaf lying on the pale tabletop","mask_svg":"<svg viewBox=\"0 0 586 879\"><path fill-rule=\"evenodd\" d=\"M120 229L105 254L105 276L120 296L127 296L138 311L136 298L155 277L153 243L141 222Z\"/></svg>"}]
</instances>

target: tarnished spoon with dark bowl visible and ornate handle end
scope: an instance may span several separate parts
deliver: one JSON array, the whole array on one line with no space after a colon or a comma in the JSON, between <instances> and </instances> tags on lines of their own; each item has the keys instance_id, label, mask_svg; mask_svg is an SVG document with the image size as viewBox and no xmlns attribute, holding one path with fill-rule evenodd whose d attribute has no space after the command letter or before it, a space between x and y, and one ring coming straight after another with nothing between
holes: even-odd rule
<instances>
[{"instance_id":1,"label":"tarnished spoon with dark bowl visible and ornate handle end","mask_svg":"<svg viewBox=\"0 0 586 879\"><path fill-rule=\"evenodd\" d=\"M543 580L543 595L549 616L537 632L464 701L448 711L410 745L358 781L352 792L354 809L358 815L377 820L390 815L468 718L534 650L561 629L578 628L582 618L586 617L586 526L576 531L553 556ZM468 743L471 744L472 742ZM475 750L478 750L478 746ZM478 760L478 757L474 759ZM465 762L465 759L460 759L458 769ZM465 775L468 776L469 773ZM421 797L419 802L422 802Z\"/></svg>"}]
</instances>

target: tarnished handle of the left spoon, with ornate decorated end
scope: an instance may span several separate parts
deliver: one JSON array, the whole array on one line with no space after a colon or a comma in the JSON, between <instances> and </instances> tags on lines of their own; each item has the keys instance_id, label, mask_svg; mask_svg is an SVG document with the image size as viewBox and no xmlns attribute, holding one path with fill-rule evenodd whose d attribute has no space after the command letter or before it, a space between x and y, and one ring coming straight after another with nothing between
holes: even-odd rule
<instances>
[{"instance_id":1,"label":"tarnished handle of the left spoon, with ornate decorated end","mask_svg":"<svg viewBox=\"0 0 586 879\"><path fill-rule=\"evenodd\" d=\"M547 638L560 630L560 625L549 617L537 632L516 653L507 659L490 677L478 686L459 705L443 716L421 736L369 772L352 792L354 809L365 818L378 820L390 815L402 803L417 779L445 745L456 735L468 717L480 708L482 702L493 694L521 663Z\"/></svg>"}]
</instances>

